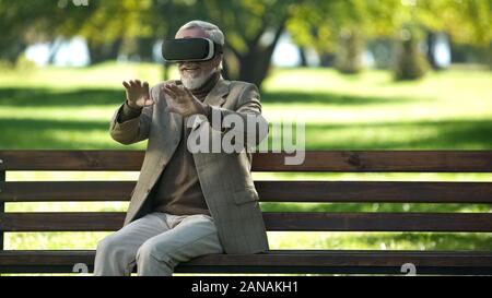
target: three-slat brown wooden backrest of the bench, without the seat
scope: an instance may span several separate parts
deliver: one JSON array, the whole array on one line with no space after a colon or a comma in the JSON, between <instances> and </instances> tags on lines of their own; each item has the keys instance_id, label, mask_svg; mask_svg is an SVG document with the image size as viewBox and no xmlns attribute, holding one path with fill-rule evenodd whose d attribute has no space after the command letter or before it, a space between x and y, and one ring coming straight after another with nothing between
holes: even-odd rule
<instances>
[{"instance_id":1,"label":"three-slat brown wooden backrest of the bench, without the seat","mask_svg":"<svg viewBox=\"0 0 492 298\"><path fill-rule=\"evenodd\" d=\"M143 151L0 151L0 249L3 233L112 231L124 213L5 213L10 202L128 201L134 181L4 181L5 171L138 171ZM302 165L257 153L254 171L492 172L492 151L313 151ZM492 203L492 182L256 181L261 202ZM263 212L268 230L492 231L492 213Z\"/></svg>"}]
</instances>

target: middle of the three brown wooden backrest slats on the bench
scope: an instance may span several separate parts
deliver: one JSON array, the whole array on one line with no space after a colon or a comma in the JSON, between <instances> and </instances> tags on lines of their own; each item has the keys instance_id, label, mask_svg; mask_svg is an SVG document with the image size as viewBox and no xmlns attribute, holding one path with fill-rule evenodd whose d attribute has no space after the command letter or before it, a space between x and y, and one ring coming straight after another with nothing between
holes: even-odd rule
<instances>
[{"instance_id":1,"label":"middle of the three brown wooden backrest slats on the bench","mask_svg":"<svg viewBox=\"0 0 492 298\"><path fill-rule=\"evenodd\" d=\"M134 181L5 182L0 202L129 201ZM492 182L256 181L262 202L492 203Z\"/></svg>"}]
</instances>

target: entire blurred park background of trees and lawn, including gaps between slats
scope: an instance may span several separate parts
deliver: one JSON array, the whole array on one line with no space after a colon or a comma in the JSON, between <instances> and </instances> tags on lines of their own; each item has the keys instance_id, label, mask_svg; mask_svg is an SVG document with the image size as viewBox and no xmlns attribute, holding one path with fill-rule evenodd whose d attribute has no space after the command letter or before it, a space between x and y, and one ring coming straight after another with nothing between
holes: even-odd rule
<instances>
[{"instance_id":1,"label":"entire blurred park background of trees and lawn, including gaps between slats","mask_svg":"<svg viewBox=\"0 0 492 298\"><path fill-rule=\"evenodd\" d=\"M109 138L121 81L177 79L161 43L190 20L225 34L223 76L261 88L307 150L492 150L492 0L0 0L0 148L143 150ZM136 180L138 172L8 172ZM490 174L255 174L255 179L492 181ZM8 203L7 212L127 203ZM280 204L263 211L491 212L485 204ZM8 234L5 249L94 249L102 233ZM492 236L269 233L271 248L484 249Z\"/></svg>"}]
</instances>

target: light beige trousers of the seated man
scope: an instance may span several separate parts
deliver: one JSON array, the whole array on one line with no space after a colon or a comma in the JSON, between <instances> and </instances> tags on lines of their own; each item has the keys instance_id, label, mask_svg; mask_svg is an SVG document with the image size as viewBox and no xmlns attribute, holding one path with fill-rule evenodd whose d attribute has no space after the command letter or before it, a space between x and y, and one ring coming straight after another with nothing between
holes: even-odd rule
<instances>
[{"instance_id":1,"label":"light beige trousers of the seated man","mask_svg":"<svg viewBox=\"0 0 492 298\"><path fill-rule=\"evenodd\" d=\"M154 212L139 218L97 245L94 275L168 276L174 267L203 254L222 253L211 216Z\"/></svg>"}]
</instances>

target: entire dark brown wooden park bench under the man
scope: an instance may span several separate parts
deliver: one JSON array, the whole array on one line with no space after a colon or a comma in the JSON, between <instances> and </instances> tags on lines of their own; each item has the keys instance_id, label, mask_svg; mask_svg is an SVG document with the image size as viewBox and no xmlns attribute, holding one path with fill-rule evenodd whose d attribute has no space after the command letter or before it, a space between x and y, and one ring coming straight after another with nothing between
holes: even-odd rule
<instances>
[{"instance_id":1,"label":"entire dark brown wooden park bench under the man","mask_svg":"<svg viewBox=\"0 0 492 298\"><path fill-rule=\"evenodd\" d=\"M93 250L4 250L5 233L114 231L124 213L13 213L5 203L128 201L134 181L4 181L7 171L138 171L142 151L0 151L0 272L72 272L93 265ZM492 172L492 151L306 152L300 166L284 154L255 154L254 171ZM492 182L256 181L262 202L491 204ZM263 212L270 231L491 233L492 213ZM188 273L389 273L413 263L418 274L492 274L489 251L271 250L214 254L176 267Z\"/></svg>"}]
</instances>

